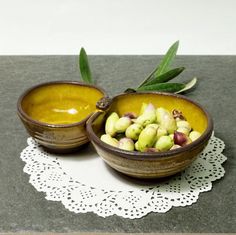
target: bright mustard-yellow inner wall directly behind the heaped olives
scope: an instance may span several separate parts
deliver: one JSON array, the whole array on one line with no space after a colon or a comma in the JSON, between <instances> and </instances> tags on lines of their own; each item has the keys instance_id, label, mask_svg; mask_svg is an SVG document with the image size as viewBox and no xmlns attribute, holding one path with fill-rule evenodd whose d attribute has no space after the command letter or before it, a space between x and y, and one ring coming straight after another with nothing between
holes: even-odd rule
<instances>
[{"instance_id":1,"label":"bright mustard-yellow inner wall directly behind the heaped olives","mask_svg":"<svg viewBox=\"0 0 236 235\"><path fill-rule=\"evenodd\" d=\"M110 111L116 111L119 115L126 112L139 114L142 103L152 103L156 108L163 107L172 111L178 109L182 111L192 128L203 133L207 128L207 117L205 113L195 104L174 96L164 96L159 94L126 94L117 97Z\"/></svg>"}]
</instances>

